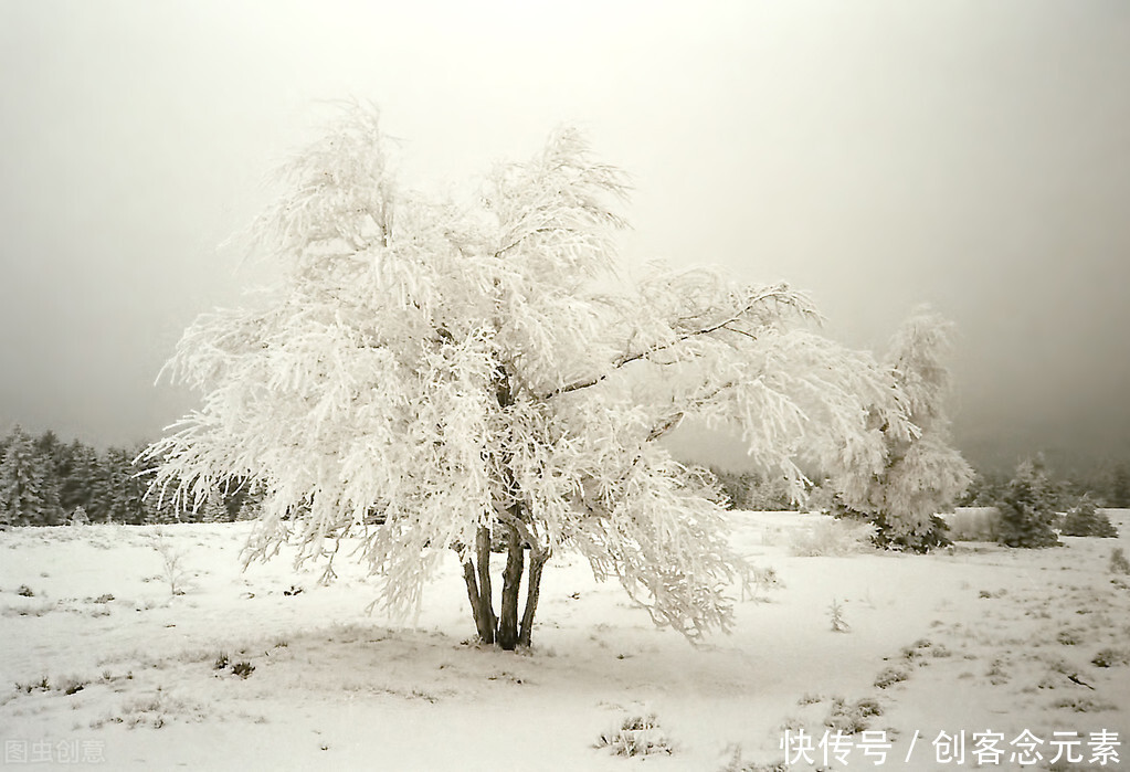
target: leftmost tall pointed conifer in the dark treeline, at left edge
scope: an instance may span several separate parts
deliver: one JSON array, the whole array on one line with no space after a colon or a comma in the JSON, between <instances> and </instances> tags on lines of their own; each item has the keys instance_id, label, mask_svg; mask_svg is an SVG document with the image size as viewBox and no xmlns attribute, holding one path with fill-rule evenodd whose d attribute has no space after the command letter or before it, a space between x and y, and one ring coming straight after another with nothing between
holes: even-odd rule
<instances>
[{"instance_id":1,"label":"leftmost tall pointed conifer in the dark treeline, at left edge","mask_svg":"<svg viewBox=\"0 0 1130 772\"><path fill-rule=\"evenodd\" d=\"M32 437L17 426L0 460L0 523L50 526L61 519L59 491L49 463Z\"/></svg>"}]
</instances>

